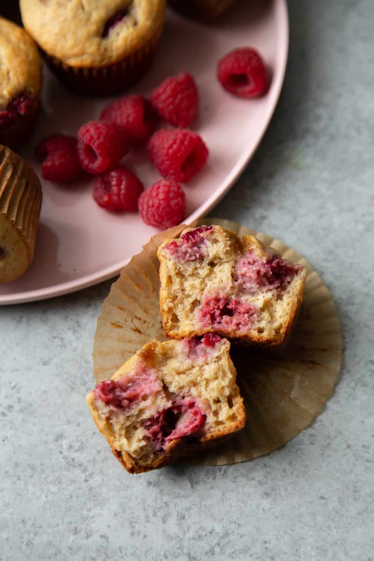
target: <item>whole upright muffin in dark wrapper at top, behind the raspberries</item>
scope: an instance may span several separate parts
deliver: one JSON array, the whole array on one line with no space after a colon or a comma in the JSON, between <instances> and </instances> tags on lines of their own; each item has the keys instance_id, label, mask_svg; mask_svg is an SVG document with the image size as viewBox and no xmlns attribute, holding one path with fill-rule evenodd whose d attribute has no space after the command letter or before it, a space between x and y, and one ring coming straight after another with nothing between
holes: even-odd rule
<instances>
[{"instance_id":1,"label":"whole upright muffin in dark wrapper at top, behind the raspberries","mask_svg":"<svg viewBox=\"0 0 374 561\"><path fill-rule=\"evenodd\" d=\"M149 68L163 29L165 0L20 0L25 29L71 89L109 95Z\"/></svg>"}]
</instances>

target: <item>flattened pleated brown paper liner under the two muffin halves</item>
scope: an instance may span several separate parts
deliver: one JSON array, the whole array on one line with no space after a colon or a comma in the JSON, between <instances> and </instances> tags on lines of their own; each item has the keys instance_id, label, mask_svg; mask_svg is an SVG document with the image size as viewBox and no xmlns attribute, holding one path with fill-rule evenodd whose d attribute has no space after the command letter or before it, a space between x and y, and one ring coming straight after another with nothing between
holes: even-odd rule
<instances>
[{"instance_id":1,"label":"flattened pleated brown paper liner under the two muffin halves","mask_svg":"<svg viewBox=\"0 0 374 561\"><path fill-rule=\"evenodd\" d=\"M282 257L307 270L304 301L288 346L259 355L233 350L247 424L227 443L190 462L227 465L262 456L292 440L315 419L333 391L341 361L341 330L330 292L304 257L279 240L229 220L205 218L192 226L220 224L239 236L253 234ZM159 309L159 261L156 251L177 226L151 238L132 257L110 289L98 318L93 362L96 383L116 370L150 339L164 341Z\"/></svg>"}]
</instances>

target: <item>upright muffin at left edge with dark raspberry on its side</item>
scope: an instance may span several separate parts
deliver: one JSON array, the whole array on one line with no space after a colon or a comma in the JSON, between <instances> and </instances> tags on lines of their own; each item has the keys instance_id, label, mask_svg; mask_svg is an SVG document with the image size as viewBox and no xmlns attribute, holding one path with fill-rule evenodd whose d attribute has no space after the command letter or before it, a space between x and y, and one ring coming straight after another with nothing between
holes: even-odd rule
<instances>
[{"instance_id":1,"label":"upright muffin at left edge with dark raspberry on its side","mask_svg":"<svg viewBox=\"0 0 374 561\"><path fill-rule=\"evenodd\" d=\"M0 144L17 150L38 118L41 61L30 36L0 17Z\"/></svg>"}]
</instances>

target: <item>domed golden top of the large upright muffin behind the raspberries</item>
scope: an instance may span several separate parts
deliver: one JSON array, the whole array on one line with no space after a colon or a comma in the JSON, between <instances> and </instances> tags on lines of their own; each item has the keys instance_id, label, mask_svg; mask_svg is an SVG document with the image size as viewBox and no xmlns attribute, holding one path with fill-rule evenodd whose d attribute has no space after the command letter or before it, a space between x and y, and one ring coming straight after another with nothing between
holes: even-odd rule
<instances>
[{"instance_id":1,"label":"domed golden top of the large upright muffin behind the raspberries","mask_svg":"<svg viewBox=\"0 0 374 561\"><path fill-rule=\"evenodd\" d=\"M20 0L25 29L50 56L100 67L142 48L164 21L165 0Z\"/></svg>"}]
</instances>

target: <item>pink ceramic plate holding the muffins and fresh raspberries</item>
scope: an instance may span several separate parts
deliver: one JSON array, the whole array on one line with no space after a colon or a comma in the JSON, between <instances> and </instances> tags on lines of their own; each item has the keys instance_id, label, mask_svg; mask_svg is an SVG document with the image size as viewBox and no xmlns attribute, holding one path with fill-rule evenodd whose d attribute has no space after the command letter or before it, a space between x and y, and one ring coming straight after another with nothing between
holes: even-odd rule
<instances>
[{"instance_id":1,"label":"pink ceramic plate holding the muffins and fresh raspberries","mask_svg":"<svg viewBox=\"0 0 374 561\"><path fill-rule=\"evenodd\" d=\"M229 50L248 45L262 53L271 71L270 90L261 99L235 98L215 78L218 60ZM154 66L134 91L146 95L165 77L184 70L195 76L201 109L193 128L209 147L210 158L185 186L188 218L184 222L193 222L219 201L257 148L278 100L287 51L285 0L239 2L209 25L168 13ZM39 171L33 160L36 142L57 132L75 135L83 123L98 118L110 101L77 98L45 70L44 111L25 158ZM159 179L143 154L129 154L124 162L145 187ZM42 181L42 186L34 261L23 277L0 286L0 304L58 296L113 277L156 232L138 214L116 215L100 209L91 197L92 181L68 187Z\"/></svg>"}]
</instances>

